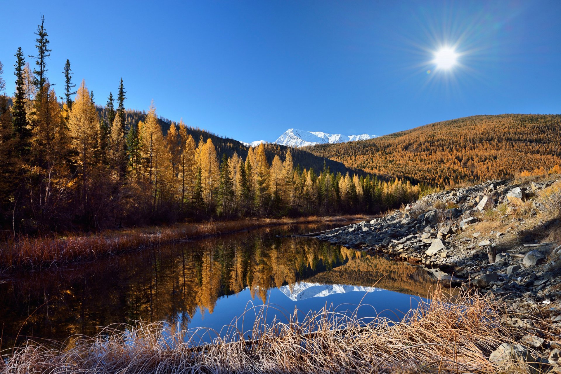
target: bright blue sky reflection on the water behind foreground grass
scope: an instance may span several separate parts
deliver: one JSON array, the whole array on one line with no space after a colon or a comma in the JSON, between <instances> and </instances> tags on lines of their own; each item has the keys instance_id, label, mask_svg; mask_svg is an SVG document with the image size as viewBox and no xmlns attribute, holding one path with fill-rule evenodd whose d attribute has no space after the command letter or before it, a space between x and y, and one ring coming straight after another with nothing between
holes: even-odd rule
<instances>
[{"instance_id":1,"label":"bright blue sky reflection on the water behind foreground grass","mask_svg":"<svg viewBox=\"0 0 561 374\"><path fill-rule=\"evenodd\" d=\"M295 308L298 309L298 320L300 321L304 319L308 312L319 311L326 306L328 308L333 306L336 312L344 312L347 315L351 315L359 304L361 306L358 308L357 317L358 319L363 319L364 322L371 321L373 316L397 321L401 320L403 315L411 308L416 308L420 300L426 301L425 298L418 296L376 289L376 292L352 291L293 301L278 288L270 288L267 291L266 303L268 303L269 307L266 312L266 322L268 324L271 323L275 317L280 322L287 322L288 317L294 314ZM263 301L259 297L252 298L250 289L246 288L232 296L219 298L212 314L206 310L204 313L201 313L200 308L197 308L187 328L190 330L210 328L217 331L217 333L222 329L220 335L224 336L227 333L227 327L223 329L223 326L231 324L234 317L242 316L244 311L247 310L244 315L243 325L241 319L237 325L238 330L246 332L252 329L255 315L260 313L260 307L263 305ZM255 307L255 309L250 310L252 307ZM202 332L203 330L200 330L200 334ZM209 342L211 338L217 336L217 333L205 334L202 339L203 342ZM247 333L245 336L247 338ZM195 342L198 341L198 338L195 339Z\"/></svg>"}]
</instances>

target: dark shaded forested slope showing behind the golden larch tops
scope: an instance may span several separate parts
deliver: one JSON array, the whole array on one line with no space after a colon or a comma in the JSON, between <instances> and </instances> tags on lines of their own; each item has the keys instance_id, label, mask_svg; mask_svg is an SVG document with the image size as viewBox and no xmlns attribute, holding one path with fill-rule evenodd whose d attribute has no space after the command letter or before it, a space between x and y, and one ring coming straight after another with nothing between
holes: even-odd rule
<instances>
[{"instance_id":1,"label":"dark shaded forested slope showing behind the golden larch tops","mask_svg":"<svg viewBox=\"0 0 561 374\"><path fill-rule=\"evenodd\" d=\"M98 113L101 116L101 118L104 121L107 121L107 111L105 110L105 107L98 105L96 106L96 109L98 110ZM126 122L128 126L130 126L130 124L138 124L139 121L144 121L147 115L145 111L131 110L131 109L127 109L125 113L126 113ZM172 123L172 121L160 116L158 118L158 122L162 127L162 132L165 136L165 134L167 134L169 130L169 126ZM234 152L236 152L238 156L242 157L243 159L247 157L247 151L249 147L245 146L245 144L235 139L223 138L217 134L214 134L212 132L200 128L195 128L190 126L187 126L186 128L187 128L187 134L190 134L195 139L197 145L201 137L203 137L204 141L206 141L206 139L208 138L211 138L218 155L222 155L223 153L226 153L228 157L232 157ZM269 163L272 163L275 155L278 155L280 158L282 158L282 160L284 160L288 149L289 149L288 147L281 146L279 144L265 144L267 161L269 161ZM290 149L292 152L292 159L294 160L295 166L300 165L302 169L313 169L316 173L319 173L321 170L323 170L324 163L325 163L325 166L329 167L330 171L335 173L340 172L342 175L347 174L347 172L350 172L350 174L358 174L364 176L366 176L367 174L362 170L353 167L347 167L343 165L343 163L330 160L327 157L316 156L313 153L304 151L302 149L297 149L297 148L290 148Z\"/></svg>"}]
</instances>

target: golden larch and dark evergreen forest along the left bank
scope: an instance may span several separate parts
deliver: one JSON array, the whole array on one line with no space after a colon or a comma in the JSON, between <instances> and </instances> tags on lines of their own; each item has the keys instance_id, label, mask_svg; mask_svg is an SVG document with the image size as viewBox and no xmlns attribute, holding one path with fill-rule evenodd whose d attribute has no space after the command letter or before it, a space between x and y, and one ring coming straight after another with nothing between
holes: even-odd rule
<instances>
[{"instance_id":1,"label":"golden larch and dark evergreen forest along the left bank","mask_svg":"<svg viewBox=\"0 0 561 374\"><path fill-rule=\"evenodd\" d=\"M27 56L34 68L21 48L14 55L13 96L5 92L0 63L0 226L5 233L377 213L419 195L421 186L403 177L331 170L328 160L321 170L300 165L292 155L302 158L300 150L215 144L214 134L182 121L163 121L153 103L147 113L132 115L125 109L122 79L117 97L110 92L107 104L96 106L85 81L75 91L69 60L63 93L57 96L47 76L51 50L44 18L35 34L36 55Z\"/></svg>"}]
</instances>

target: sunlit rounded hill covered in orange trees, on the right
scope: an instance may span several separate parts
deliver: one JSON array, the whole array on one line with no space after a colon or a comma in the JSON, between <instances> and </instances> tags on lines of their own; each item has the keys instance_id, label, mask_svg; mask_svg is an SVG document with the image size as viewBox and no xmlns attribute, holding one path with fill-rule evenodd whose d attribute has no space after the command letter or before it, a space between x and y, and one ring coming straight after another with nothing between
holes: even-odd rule
<instances>
[{"instance_id":1,"label":"sunlit rounded hill covered in orange trees, on the right","mask_svg":"<svg viewBox=\"0 0 561 374\"><path fill-rule=\"evenodd\" d=\"M561 115L477 115L303 149L347 167L431 185L501 179L561 165Z\"/></svg>"}]
</instances>

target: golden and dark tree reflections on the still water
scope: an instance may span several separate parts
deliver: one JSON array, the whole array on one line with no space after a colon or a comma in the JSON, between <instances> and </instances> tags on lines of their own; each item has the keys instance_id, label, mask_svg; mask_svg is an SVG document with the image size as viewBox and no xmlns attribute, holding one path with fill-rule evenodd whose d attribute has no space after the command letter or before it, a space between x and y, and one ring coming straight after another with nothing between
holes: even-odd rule
<instances>
[{"instance_id":1,"label":"golden and dark tree reflections on the still water","mask_svg":"<svg viewBox=\"0 0 561 374\"><path fill-rule=\"evenodd\" d=\"M268 288L310 277L318 282L367 284L373 269L381 273L382 264L388 263L365 262L360 253L314 239L276 237L281 230L148 249L75 270L0 283L2 348L13 344L35 309L22 335L63 340L72 334L95 334L94 326L135 320L185 325L197 310L211 313L219 297L246 287L265 301ZM389 279L403 289L412 281L402 270L395 270ZM391 288L387 280L378 286Z\"/></svg>"}]
</instances>

